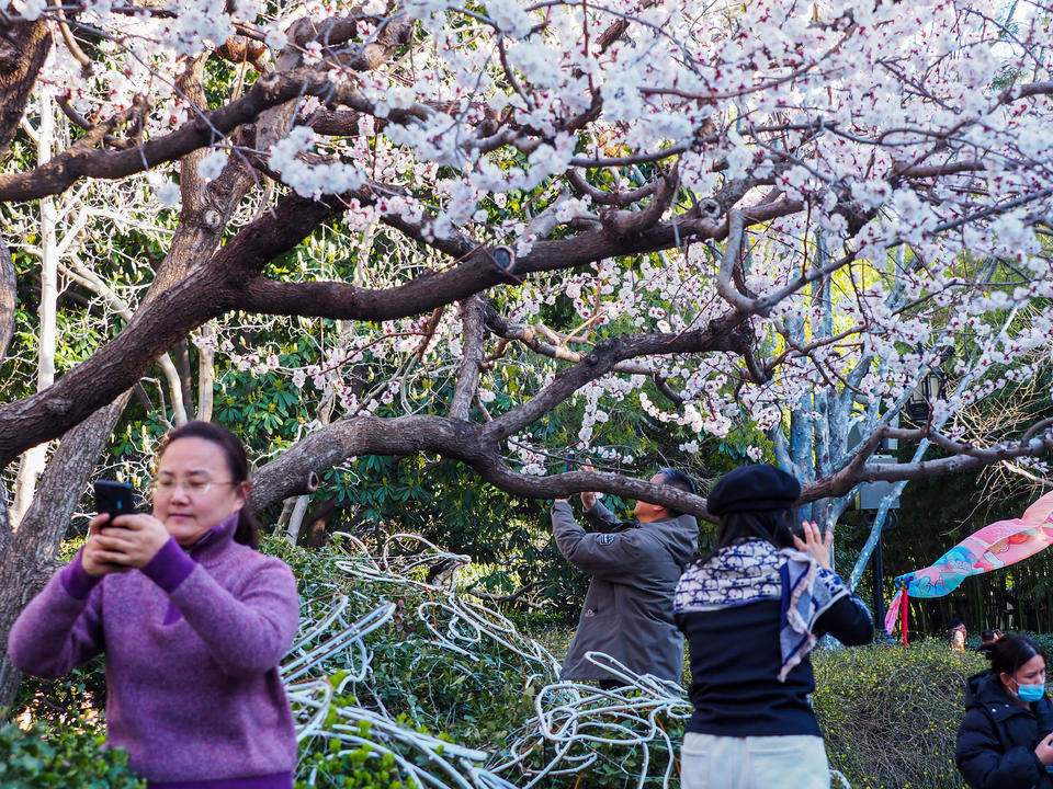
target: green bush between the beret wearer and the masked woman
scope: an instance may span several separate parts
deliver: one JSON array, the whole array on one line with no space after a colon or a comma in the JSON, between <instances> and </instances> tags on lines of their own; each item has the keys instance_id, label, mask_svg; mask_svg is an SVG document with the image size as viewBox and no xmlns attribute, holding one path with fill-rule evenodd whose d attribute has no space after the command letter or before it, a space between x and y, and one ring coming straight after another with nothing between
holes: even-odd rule
<instances>
[{"instance_id":1,"label":"green bush between the beret wearer and the masked woman","mask_svg":"<svg viewBox=\"0 0 1053 789\"><path fill-rule=\"evenodd\" d=\"M854 789L961 789L954 741L975 653L930 639L814 654L812 698L830 766Z\"/></svg>"}]
</instances>

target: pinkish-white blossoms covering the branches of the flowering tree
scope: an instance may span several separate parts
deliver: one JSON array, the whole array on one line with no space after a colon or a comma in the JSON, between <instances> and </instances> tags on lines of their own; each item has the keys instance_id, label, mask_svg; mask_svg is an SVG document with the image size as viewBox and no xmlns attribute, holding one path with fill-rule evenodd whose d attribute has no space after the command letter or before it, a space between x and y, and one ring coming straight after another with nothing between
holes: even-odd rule
<instances>
[{"instance_id":1,"label":"pinkish-white blossoms covering the branches of the flowering tree","mask_svg":"<svg viewBox=\"0 0 1053 789\"><path fill-rule=\"evenodd\" d=\"M774 445L791 411L822 418L837 399L870 419L941 368L953 386L935 413L953 415L1050 359L1053 91L1041 85L1053 23L1033 4L1014 4L1014 19L989 5L917 0L904 13L896 3L728 0L699 13L689 0L491 0L471 11L410 0L397 10L416 20L412 44L363 70L351 56L375 49L395 20L380 3L341 49L296 45L290 32L304 16L341 18L352 8L342 2L283 5L274 19L248 0L177 0L157 15L100 0L83 20L104 34L105 68L86 77L56 46L43 79L91 116L145 92L145 133L163 134L202 113L176 88L181 59L252 32L272 49L268 68L314 68L331 84L292 102L287 129L249 152L299 195L346 198L353 239L335 254L359 261L356 284L394 287L432 267L419 247L390 241L398 220L414 244L509 244L537 275L495 302L524 324L568 305L567 347L703 330L728 313L727 287L770 298L744 319L752 364L723 351L636 359L648 376L608 375L579 390L577 439L592 444L627 400L689 434L686 450L744 423ZM14 8L48 13L38 0ZM228 99L242 89L231 82ZM358 113L355 128L315 130L333 107ZM200 175L217 178L240 153L217 140ZM620 236L620 222L656 205L660 178L675 184L668 205ZM179 193L166 182L157 197L173 204ZM721 282L733 206L755 218L737 276ZM545 244L575 235L601 252L576 250L558 274L542 273ZM412 410L455 376L462 331L446 309L330 332L310 363L234 341L219 350L235 369L309 381L349 413ZM495 409L509 369L526 397L558 368L530 354L491 362L478 399ZM383 370L377 380L400 378L371 379L363 393L348 371L363 365ZM655 395L649 378L677 398ZM523 471L539 472L545 456L520 439ZM837 441L843 456L847 439Z\"/></svg>"}]
</instances>

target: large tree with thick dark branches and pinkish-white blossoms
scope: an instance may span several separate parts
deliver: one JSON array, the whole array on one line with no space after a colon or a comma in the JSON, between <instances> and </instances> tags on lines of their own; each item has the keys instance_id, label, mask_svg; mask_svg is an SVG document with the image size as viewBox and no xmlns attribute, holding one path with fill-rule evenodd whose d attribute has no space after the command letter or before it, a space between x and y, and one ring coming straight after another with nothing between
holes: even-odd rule
<instances>
[{"instance_id":1,"label":"large tree with thick dark branches and pinkish-white blossoms","mask_svg":"<svg viewBox=\"0 0 1053 789\"><path fill-rule=\"evenodd\" d=\"M1039 3L13 0L2 23L0 139L33 130L34 94L78 130L9 159L0 202L120 181L172 222L123 328L0 404L0 466L59 438L0 528L4 579L48 553L126 392L188 336L317 405L259 469L257 506L352 457L432 453L514 495L704 516L630 474L559 472L533 428L570 399L581 446L608 456L596 428L626 399L690 430L687 449L748 423L768 436L750 454L833 516L861 481L1053 447L1050 422L983 446L956 422L1050 355ZM557 302L569 329L550 325ZM241 340L279 318L328 327L316 358ZM893 427L936 365L949 397ZM946 457L871 461L887 436ZM0 591L0 631L20 596Z\"/></svg>"}]
</instances>

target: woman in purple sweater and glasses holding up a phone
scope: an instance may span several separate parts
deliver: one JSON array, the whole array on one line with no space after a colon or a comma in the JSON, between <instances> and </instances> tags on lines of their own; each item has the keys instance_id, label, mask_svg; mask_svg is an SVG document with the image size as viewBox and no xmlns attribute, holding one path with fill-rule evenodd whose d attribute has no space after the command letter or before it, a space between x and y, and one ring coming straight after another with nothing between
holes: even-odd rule
<instances>
[{"instance_id":1,"label":"woman in purple sweater and glasses holding up a phone","mask_svg":"<svg viewBox=\"0 0 1053 789\"><path fill-rule=\"evenodd\" d=\"M151 515L95 516L15 621L12 662L59 677L106 655L109 743L149 789L291 789L278 663L296 633L288 567L256 551L241 442L191 422L157 459Z\"/></svg>"}]
</instances>

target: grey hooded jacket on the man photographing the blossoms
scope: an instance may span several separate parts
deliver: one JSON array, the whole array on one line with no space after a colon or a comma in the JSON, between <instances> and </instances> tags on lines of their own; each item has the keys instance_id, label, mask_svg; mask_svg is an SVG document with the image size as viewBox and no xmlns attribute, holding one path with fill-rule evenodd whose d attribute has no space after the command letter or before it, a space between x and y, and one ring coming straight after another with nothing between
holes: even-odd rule
<instances>
[{"instance_id":1,"label":"grey hooded jacket on the man photographing the blossoms","mask_svg":"<svg viewBox=\"0 0 1053 789\"><path fill-rule=\"evenodd\" d=\"M602 530L586 533L566 502L552 506L559 551L592 576L559 678L611 678L585 659L604 652L637 674L679 683L683 637L672 621L672 593L697 550L698 522L680 515L612 531L618 519L602 504L585 515Z\"/></svg>"}]
</instances>

